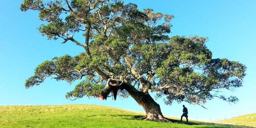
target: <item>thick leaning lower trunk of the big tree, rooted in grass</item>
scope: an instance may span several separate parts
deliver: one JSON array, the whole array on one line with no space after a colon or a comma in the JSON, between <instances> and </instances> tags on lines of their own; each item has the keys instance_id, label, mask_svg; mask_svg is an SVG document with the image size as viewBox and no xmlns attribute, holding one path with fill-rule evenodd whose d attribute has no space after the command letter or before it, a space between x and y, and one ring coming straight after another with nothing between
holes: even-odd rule
<instances>
[{"instance_id":1,"label":"thick leaning lower trunk of the big tree, rooted in grass","mask_svg":"<svg viewBox=\"0 0 256 128\"><path fill-rule=\"evenodd\" d=\"M160 105L149 95L149 93L140 92L131 84L125 84L124 89L132 96L134 100L146 111L145 120L171 122L165 118L161 112Z\"/></svg>"}]
</instances>

